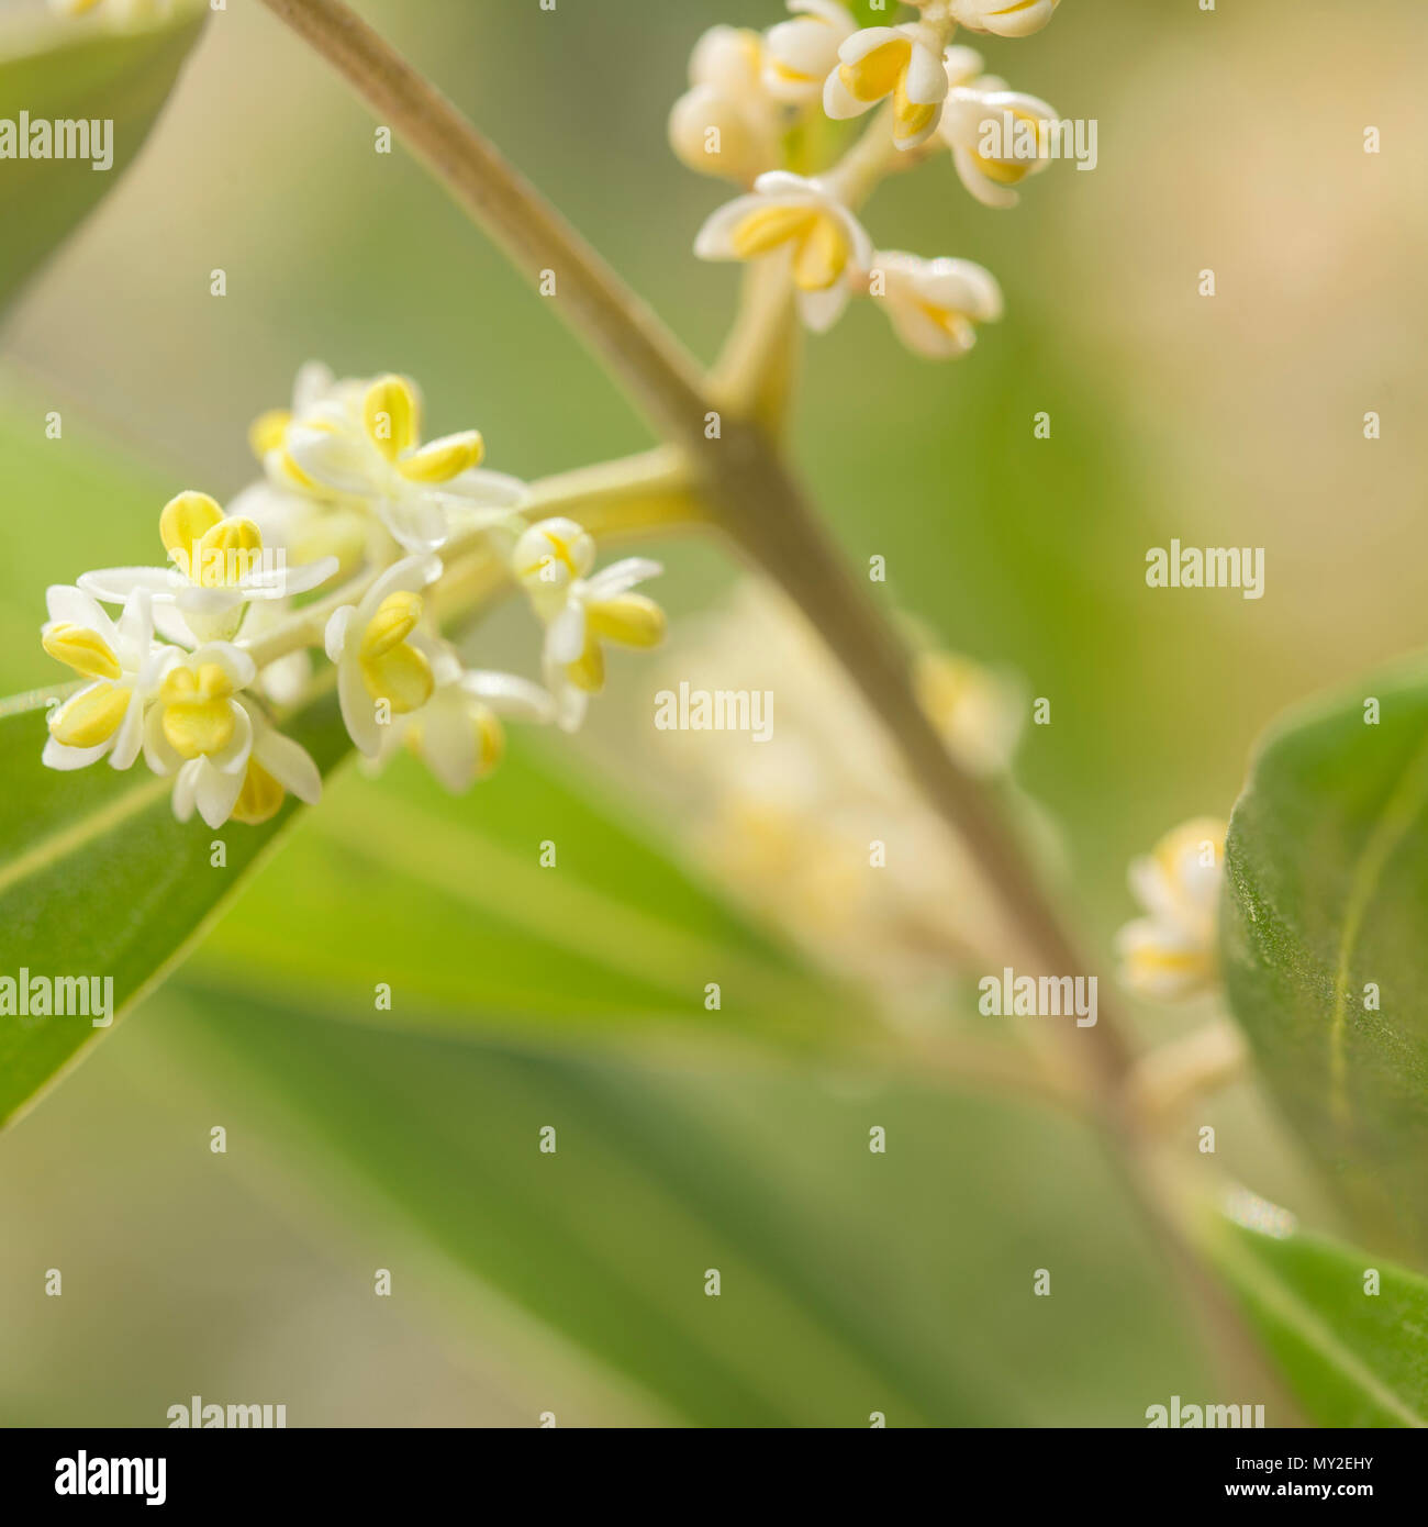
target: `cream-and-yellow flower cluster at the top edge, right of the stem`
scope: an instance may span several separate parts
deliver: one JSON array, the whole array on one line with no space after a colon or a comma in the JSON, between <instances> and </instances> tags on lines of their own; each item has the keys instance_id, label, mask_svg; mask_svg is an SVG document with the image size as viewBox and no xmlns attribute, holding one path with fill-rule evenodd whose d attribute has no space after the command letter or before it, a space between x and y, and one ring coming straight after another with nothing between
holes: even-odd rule
<instances>
[{"instance_id":1,"label":"cream-and-yellow flower cluster at the top edge, right of the stem","mask_svg":"<svg viewBox=\"0 0 1428 1527\"><path fill-rule=\"evenodd\" d=\"M695 46L669 137L692 169L748 188L699 229L701 260L782 261L816 331L851 296L877 298L909 348L944 359L1000 316L996 281L967 260L874 249L855 208L895 162L936 145L981 203L1016 205L1020 182L1046 168L1043 128L1055 111L984 73L981 56L951 38L958 26L1025 37L1051 20L1057 0L913 3L916 20L893 26L858 26L840 0L788 0L793 15L767 32L713 27ZM842 160L823 174L794 173L811 119L840 122L878 105Z\"/></svg>"}]
</instances>

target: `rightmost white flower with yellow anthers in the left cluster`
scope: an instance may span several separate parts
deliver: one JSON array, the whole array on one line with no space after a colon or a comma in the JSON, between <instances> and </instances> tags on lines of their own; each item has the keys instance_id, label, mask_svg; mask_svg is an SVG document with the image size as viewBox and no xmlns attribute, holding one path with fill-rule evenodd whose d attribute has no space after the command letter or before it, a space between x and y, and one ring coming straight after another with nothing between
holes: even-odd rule
<instances>
[{"instance_id":1,"label":"rightmost white flower with yellow anthers in the left cluster","mask_svg":"<svg viewBox=\"0 0 1428 1527\"><path fill-rule=\"evenodd\" d=\"M512 573L545 623L545 684L556 724L574 731L590 695L605 687L603 641L654 647L664 638L664 611L637 583L664 570L648 557L626 557L586 577L596 545L573 519L542 519L516 542Z\"/></svg>"}]
</instances>

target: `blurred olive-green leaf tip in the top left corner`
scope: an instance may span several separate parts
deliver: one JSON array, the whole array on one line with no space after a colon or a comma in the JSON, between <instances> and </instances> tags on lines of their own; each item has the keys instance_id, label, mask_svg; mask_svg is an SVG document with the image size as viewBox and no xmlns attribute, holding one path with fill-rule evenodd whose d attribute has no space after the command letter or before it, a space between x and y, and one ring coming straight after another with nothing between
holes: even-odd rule
<instances>
[{"instance_id":1,"label":"blurred olive-green leaf tip in the top left corner","mask_svg":"<svg viewBox=\"0 0 1428 1527\"><path fill-rule=\"evenodd\" d=\"M23 111L31 124L113 122L107 169L93 159L0 159L0 304L118 183L206 15L199 0L182 0L166 20L122 32L50 17L20 34L0 34L0 121L20 124Z\"/></svg>"}]
</instances>

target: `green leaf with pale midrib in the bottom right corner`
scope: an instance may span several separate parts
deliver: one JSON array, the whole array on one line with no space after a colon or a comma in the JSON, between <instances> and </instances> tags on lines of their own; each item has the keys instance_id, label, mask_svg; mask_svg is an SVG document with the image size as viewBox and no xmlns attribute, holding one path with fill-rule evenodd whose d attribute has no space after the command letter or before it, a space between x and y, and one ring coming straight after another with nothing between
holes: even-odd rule
<instances>
[{"instance_id":1,"label":"green leaf with pale midrib in the bottom right corner","mask_svg":"<svg viewBox=\"0 0 1428 1527\"><path fill-rule=\"evenodd\" d=\"M1428 1425L1428 1281L1352 1246L1228 1222L1208 1249L1309 1417Z\"/></svg>"}]
</instances>

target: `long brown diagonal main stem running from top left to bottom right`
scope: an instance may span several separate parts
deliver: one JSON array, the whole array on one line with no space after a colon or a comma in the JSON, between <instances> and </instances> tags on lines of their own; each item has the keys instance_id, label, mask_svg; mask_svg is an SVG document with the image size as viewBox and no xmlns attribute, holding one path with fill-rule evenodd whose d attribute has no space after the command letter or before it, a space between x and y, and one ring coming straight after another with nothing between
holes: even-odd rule
<instances>
[{"instance_id":1,"label":"long brown diagonal main stem running from top left to bottom right","mask_svg":"<svg viewBox=\"0 0 1428 1527\"><path fill-rule=\"evenodd\" d=\"M1084 971L1022 844L924 715L906 651L869 591L852 577L758 411L725 417L719 437L709 438L706 420L732 395L727 383L704 379L683 345L559 212L342 0L263 3L348 79L527 278L547 267L557 272L561 315L603 357L658 432L683 447L709 518L793 597L887 728L907 773L967 843L1006 916L1023 967L1052 976ZM869 171L881 151L869 142ZM851 171L861 168L858 159ZM1123 1173L1159 1228L1197 1309L1240 1361L1254 1361L1257 1348L1210 1278L1179 1209L1165 1202L1167 1179L1147 1159L1150 1142L1129 1098L1135 1057L1112 1009L1103 996L1097 1026L1072 1031L1066 1064L1081 1075ZM1268 1377L1263 1382L1272 1383Z\"/></svg>"}]
</instances>

